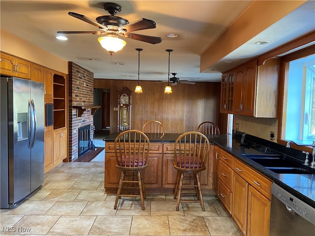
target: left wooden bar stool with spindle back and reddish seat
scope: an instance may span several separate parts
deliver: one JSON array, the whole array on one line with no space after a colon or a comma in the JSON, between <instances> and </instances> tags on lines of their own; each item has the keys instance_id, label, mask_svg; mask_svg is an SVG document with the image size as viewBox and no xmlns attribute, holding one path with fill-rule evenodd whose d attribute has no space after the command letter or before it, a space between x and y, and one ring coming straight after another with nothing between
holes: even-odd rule
<instances>
[{"instance_id":1,"label":"left wooden bar stool with spindle back and reddish seat","mask_svg":"<svg viewBox=\"0 0 315 236\"><path fill-rule=\"evenodd\" d=\"M142 209L144 210L146 192L141 171L148 167L150 140L141 131L127 130L116 137L114 141L114 148L116 167L122 171L114 209L117 208L118 199L120 197L140 197ZM138 188L139 194L122 194L122 189L125 183L126 185L131 184L131 187L129 186L128 189ZM133 184L137 184L138 186L134 187Z\"/></svg>"}]
</instances>

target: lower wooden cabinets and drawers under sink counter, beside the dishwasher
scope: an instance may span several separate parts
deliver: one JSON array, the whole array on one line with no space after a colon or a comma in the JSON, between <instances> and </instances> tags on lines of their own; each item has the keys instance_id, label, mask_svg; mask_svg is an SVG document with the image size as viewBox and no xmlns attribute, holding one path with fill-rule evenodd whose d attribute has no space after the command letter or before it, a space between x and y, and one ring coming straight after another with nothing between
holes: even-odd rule
<instances>
[{"instance_id":1,"label":"lower wooden cabinets and drawers under sink counter, beside the dishwasher","mask_svg":"<svg viewBox=\"0 0 315 236\"><path fill-rule=\"evenodd\" d=\"M217 172L214 179L217 179L218 198L245 236L269 236L272 182L237 158L232 160L231 155L219 150L214 150L214 155L219 153L217 170L214 170L214 173ZM231 162L233 170L227 165Z\"/></svg>"}]
</instances>

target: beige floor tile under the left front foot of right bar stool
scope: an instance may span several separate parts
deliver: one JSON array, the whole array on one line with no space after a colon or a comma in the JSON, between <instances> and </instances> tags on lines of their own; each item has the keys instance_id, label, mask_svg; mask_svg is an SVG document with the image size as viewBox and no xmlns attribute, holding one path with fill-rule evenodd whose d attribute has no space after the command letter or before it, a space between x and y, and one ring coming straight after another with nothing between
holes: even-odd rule
<instances>
[{"instance_id":1,"label":"beige floor tile under the left front foot of right bar stool","mask_svg":"<svg viewBox=\"0 0 315 236\"><path fill-rule=\"evenodd\" d=\"M180 204L179 210L176 210L176 203L152 201L151 202L151 215L177 215L184 216L183 207Z\"/></svg>"}]
</instances>

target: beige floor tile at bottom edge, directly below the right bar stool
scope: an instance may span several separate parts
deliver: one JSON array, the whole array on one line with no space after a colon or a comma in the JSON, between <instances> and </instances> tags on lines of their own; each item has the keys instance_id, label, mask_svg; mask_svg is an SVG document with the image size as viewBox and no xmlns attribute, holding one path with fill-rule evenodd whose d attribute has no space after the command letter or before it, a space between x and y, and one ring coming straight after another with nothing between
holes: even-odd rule
<instances>
[{"instance_id":1,"label":"beige floor tile at bottom edge, directly below the right bar stool","mask_svg":"<svg viewBox=\"0 0 315 236\"><path fill-rule=\"evenodd\" d=\"M168 216L171 235L210 235L207 225L200 216Z\"/></svg>"}]
</instances>

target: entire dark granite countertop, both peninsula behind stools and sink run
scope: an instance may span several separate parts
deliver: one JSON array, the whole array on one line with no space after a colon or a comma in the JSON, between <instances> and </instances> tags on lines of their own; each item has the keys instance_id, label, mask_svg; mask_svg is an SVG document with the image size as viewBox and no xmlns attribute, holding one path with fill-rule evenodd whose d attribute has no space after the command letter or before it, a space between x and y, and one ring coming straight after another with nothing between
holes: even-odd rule
<instances>
[{"instance_id":1,"label":"entire dark granite countertop, both peninsula behind stools and sink run","mask_svg":"<svg viewBox=\"0 0 315 236\"><path fill-rule=\"evenodd\" d=\"M105 137L103 140L113 142L119 133L112 133ZM181 134L177 133L165 133L163 137L159 137L154 133L146 133L150 142L170 142L174 143L175 140ZM261 173L265 177L268 177L273 182L278 184L280 187L285 189L287 192L291 193L293 196L307 203L308 205L315 207L315 174L313 175L301 175L301 174L277 174L267 168L259 165L250 158L243 156L243 154L261 154L264 151L259 151L255 148L241 146L240 139L236 138L231 134L221 134L221 135L207 135L209 141L213 144L218 145L220 148L226 150L242 162L246 163L248 166L255 169L257 172ZM286 151L280 145L271 146L272 149L268 149L268 153L283 153ZM289 148L290 149L290 148ZM301 162L302 163L302 162Z\"/></svg>"}]
</instances>

